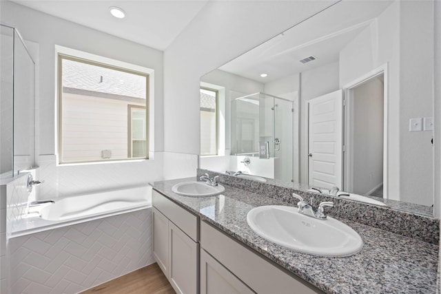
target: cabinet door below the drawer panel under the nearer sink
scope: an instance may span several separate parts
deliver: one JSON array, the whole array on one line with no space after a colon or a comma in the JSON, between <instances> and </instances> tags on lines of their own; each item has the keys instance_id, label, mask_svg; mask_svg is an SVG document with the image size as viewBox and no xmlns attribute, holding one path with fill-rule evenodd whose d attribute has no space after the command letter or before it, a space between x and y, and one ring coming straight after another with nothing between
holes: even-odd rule
<instances>
[{"instance_id":1,"label":"cabinet door below the drawer panel under the nearer sink","mask_svg":"<svg viewBox=\"0 0 441 294\"><path fill-rule=\"evenodd\" d=\"M201 294L255 293L217 262L205 250L201 250Z\"/></svg>"}]
</instances>

